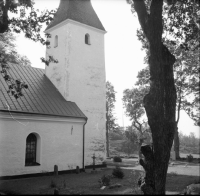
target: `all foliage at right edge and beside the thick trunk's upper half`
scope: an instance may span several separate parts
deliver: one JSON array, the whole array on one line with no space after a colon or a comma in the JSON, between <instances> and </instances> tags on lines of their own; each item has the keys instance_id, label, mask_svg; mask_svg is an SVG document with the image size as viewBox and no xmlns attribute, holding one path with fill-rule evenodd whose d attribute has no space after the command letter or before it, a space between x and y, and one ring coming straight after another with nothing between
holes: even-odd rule
<instances>
[{"instance_id":1,"label":"all foliage at right edge and beside the thick trunk's upper half","mask_svg":"<svg viewBox=\"0 0 200 196\"><path fill-rule=\"evenodd\" d=\"M176 1L174 1L176 2ZM200 19L198 1L182 1L172 6L163 5L163 37L162 41L175 56L174 64L175 86L177 90L177 119L180 110L184 110L199 126L199 46L197 13ZM181 24L181 25L180 25ZM149 44L142 30L137 31L138 39L142 42L142 49L146 51L145 63L148 63ZM149 68L139 74L141 84L149 86Z\"/></svg>"}]
</instances>

